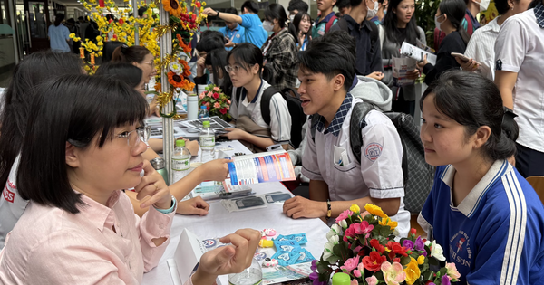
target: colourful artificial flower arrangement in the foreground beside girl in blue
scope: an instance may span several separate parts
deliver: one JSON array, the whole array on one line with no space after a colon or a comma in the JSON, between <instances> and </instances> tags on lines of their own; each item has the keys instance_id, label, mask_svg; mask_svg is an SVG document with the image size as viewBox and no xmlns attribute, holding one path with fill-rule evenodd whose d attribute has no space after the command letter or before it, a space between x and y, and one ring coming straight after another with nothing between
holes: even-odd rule
<instances>
[{"instance_id":1,"label":"colourful artificial flower arrangement in the foreground beside girl in blue","mask_svg":"<svg viewBox=\"0 0 544 285\"><path fill-rule=\"evenodd\" d=\"M449 285L460 280L455 263L445 263L442 247L415 236L395 242L393 222L382 209L366 204L360 213L356 204L340 214L327 233L320 261L312 263L310 279L325 285L336 272L345 272L352 284Z\"/></svg>"}]
</instances>

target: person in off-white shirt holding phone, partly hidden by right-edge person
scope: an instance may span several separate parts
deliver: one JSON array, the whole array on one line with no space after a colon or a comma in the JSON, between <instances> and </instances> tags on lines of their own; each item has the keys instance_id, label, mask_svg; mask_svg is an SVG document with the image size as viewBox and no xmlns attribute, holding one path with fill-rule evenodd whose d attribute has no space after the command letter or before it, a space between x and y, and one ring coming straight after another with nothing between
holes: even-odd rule
<instances>
[{"instance_id":1,"label":"person in off-white shirt holding phone, partly hidden by right-edge person","mask_svg":"<svg viewBox=\"0 0 544 285\"><path fill-rule=\"evenodd\" d=\"M455 58L461 69L480 72L481 75L495 79L495 40L499 36L500 25L514 14L527 11L531 0L495 0L495 7L499 16L490 23L474 31L467 45L464 55L470 60L465 62Z\"/></svg>"}]
</instances>

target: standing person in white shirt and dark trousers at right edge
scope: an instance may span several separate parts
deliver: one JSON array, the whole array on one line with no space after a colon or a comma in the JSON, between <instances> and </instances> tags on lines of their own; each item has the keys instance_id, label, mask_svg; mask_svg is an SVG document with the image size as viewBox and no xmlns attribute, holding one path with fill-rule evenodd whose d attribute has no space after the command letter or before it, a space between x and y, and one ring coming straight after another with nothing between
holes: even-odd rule
<instances>
[{"instance_id":1,"label":"standing person in white shirt and dark trousers at right edge","mask_svg":"<svg viewBox=\"0 0 544 285\"><path fill-rule=\"evenodd\" d=\"M518 115L516 168L521 176L544 176L544 5L511 16L495 43L495 84L504 106Z\"/></svg>"}]
</instances>

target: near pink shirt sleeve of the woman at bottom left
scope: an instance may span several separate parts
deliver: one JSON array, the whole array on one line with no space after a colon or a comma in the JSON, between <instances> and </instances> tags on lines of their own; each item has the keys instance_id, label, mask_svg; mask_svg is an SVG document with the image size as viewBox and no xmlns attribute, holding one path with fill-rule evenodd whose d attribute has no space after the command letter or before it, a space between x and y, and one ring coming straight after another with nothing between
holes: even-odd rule
<instances>
[{"instance_id":1,"label":"near pink shirt sleeve of the woman at bottom left","mask_svg":"<svg viewBox=\"0 0 544 285\"><path fill-rule=\"evenodd\" d=\"M108 252L82 233L53 233L29 252L24 284L125 284Z\"/></svg>"}]
</instances>

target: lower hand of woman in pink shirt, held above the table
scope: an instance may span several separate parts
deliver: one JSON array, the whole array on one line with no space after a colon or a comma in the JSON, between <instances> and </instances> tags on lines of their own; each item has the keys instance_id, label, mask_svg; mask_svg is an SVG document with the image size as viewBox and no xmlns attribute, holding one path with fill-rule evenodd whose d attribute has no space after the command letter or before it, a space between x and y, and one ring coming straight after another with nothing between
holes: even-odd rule
<instances>
[{"instance_id":1,"label":"lower hand of woman in pink shirt, held above the table","mask_svg":"<svg viewBox=\"0 0 544 285\"><path fill-rule=\"evenodd\" d=\"M256 230L244 229L228 234L219 241L231 243L204 253L199 269L191 277L193 284L211 285L218 275L239 273L251 265L261 234Z\"/></svg>"}]
</instances>

